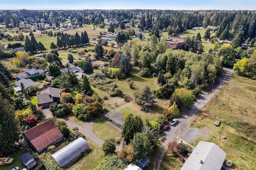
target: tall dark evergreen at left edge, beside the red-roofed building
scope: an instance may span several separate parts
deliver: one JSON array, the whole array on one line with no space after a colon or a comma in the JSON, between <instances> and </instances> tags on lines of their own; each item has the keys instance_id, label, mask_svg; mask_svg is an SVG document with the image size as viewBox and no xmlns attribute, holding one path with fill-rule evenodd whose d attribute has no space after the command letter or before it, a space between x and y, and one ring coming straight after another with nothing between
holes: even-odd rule
<instances>
[{"instance_id":1,"label":"tall dark evergreen at left edge, beside the red-roofed building","mask_svg":"<svg viewBox=\"0 0 256 170\"><path fill-rule=\"evenodd\" d=\"M0 151L12 152L18 141L18 124L15 119L15 109L0 93Z\"/></svg>"}]
</instances>

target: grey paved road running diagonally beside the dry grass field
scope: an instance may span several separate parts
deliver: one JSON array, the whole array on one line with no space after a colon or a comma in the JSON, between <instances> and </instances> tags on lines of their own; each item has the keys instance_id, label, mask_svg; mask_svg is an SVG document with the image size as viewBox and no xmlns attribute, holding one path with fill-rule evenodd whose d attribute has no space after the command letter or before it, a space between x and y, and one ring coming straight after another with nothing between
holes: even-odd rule
<instances>
[{"instance_id":1,"label":"grey paved road running diagonally beside the dry grass field","mask_svg":"<svg viewBox=\"0 0 256 170\"><path fill-rule=\"evenodd\" d=\"M160 169L162 158L168 148L168 142L174 140L178 141L182 138L184 134L186 134L194 115L196 115L196 113L198 113L198 111L200 111L210 101L210 99L212 99L212 97L214 97L218 93L218 91L222 88L224 83L226 83L226 81L230 79L233 70L227 68L224 68L224 70L226 71L226 73L224 73L222 77L218 81L216 81L216 83L213 86L214 91L210 94L205 92L202 96L200 96L197 99L194 105L192 105L190 109L188 109L188 111L186 111L183 115L181 115L178 118L178 123L169 128L167 131L163 131L161 133L161 136L166 136L166 140L165 142L162 142L162 145L156 151L157 154L152 166L152 170Z\"/></svg>"}]
</instances>

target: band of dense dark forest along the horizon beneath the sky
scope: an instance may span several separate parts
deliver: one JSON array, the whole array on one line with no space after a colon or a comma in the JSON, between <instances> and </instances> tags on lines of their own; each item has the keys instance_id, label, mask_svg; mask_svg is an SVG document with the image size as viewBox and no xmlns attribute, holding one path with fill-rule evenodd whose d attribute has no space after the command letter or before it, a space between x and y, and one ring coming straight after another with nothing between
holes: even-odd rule
<instances>
[{"instance_id":1,"label":"band of dense dark forest along the horizon beneath the sky","mask_svg":"<svg viewBox=\"0 0 256 170\"><path fill-rule=\"evenodd\" d=\"M195 26L214 26L220 33L228 26L230 36L243 31L244 39L256 36L255 11L220 11L220 10L1 10L0 22L6 28L20 27L20 22L48 23L60 26L61 22L70 19L72 24L101 24L104 19L115 19L118 22L139 22L142 30L167 30L174 33L191 29ZM75 22L77 21L77 22Z\"/></svg>"}]
</instances>

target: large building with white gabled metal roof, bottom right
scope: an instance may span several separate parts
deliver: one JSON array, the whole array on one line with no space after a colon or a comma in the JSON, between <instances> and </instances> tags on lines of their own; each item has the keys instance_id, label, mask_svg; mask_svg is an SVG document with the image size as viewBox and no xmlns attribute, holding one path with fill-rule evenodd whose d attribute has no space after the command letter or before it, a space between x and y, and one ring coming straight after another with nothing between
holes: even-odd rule
<instances>
[{"instance_id":1,"label":"large building with white gabled metal roof, bottom right","mask_svg":"<svg viewBox=\"0 0 256 170\"><path fill-rule=\"evenodd\" d=\"M226 156L216 144L200 141L181 170L221 170Z\"/></svg>"}]
</instances>

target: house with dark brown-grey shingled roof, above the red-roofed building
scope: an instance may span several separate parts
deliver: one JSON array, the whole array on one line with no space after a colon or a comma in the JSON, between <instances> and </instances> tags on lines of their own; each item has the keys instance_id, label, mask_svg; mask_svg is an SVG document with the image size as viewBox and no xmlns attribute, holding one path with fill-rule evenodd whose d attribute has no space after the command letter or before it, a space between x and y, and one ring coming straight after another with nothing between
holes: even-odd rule
<instances>
[{"instance_id":1,"label":"house with dark brown-grey shingled roof, above the red-roofed building","mask_svg":"<svg viewBox=\"0 0 256 170\"><path fill-rule=\"evenodd\" d=\"M38 107L49 107L51 103L60 100L60 95L61 93L59 89L48 87L37 95L37 105Z\"/></svg>"}]
</instances>

